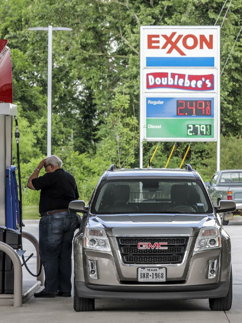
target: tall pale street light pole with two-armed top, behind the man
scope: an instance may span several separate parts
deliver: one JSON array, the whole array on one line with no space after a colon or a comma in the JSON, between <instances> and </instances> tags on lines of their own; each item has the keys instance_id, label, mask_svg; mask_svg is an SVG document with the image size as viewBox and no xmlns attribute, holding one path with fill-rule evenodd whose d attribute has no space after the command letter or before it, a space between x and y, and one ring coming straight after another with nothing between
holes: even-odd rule
<instances>
[{"instance_id":1,"label":"tall pale street light pole with two-armed top, behind the man","mask_svg":"<svg viewBox=\"0 0 242 323\"><path fill-rule=\"evenodd\" d=\"M47 30L48 31L48 84L47 84L47 156L51 155L51 102L52 102L52 30L68 30L67 27L33 27L28 30Z\"/></svg>"}]
</instances>

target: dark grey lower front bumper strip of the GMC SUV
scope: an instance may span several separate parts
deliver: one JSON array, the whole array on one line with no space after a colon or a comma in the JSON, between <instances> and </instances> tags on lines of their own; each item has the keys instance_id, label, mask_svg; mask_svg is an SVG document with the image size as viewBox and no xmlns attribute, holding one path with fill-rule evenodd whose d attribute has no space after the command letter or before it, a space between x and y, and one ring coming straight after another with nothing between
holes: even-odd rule
<instances>
[{"instance_id":1,"label":"dark grey lower front bumper strip of the GMC SUV","mask_svg":"<svg viewBox=\"0 0 242 323\"><path fill-rule=\"evenodd\" d=\"M79 297L106 299L196 299L225 297L229 281L195 286L104 286L76 281Z\"/></svg>"}]
</instances>

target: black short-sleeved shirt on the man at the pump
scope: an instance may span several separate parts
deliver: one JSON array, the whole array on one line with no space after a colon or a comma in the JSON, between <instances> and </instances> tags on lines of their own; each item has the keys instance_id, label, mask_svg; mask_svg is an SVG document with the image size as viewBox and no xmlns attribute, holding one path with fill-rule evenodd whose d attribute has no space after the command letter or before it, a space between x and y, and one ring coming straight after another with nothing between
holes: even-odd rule
<instances>
[{"instance_id":1,"label":"black short-sleeved shirt on the man at the pump","mask_svg":"<svg viewBox=\"0 0 242 323\"><path fill-rule=\"evenodd\" d=\"M34 188L40 191L39 213L68 209L69 203L79 198L74 176L58 168L55 172L32 179Z\"/></svg>"}]
</instances>

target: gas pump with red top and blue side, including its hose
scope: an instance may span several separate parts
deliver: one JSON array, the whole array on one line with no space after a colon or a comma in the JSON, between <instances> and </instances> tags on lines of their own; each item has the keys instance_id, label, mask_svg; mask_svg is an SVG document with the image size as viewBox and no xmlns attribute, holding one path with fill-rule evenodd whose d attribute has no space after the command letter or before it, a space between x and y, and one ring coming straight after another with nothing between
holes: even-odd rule
<instances>
[{"instance_id":1,"label":"gas pump with red top and blue side, including its hose","mask_svg":"<svg viewBox=\"0 0 242 323\"><path fill-rule=\"evenodd\" d=\"M22 249L22 194L18 150L19 131L17 123L17 106L13 104L11 54L6 44L7 40L0 39L0 242L4 242L13 249ZM12 165L12 133L14 119L16 123L17 166ZM19 195L16 181L17 169ZM28 238L30 234L24 233L24 235L35 244L35 241L33 242L33 240L36 239L34 236ZM26 266L27 260L24 260L23 255L22 259L23 265ZM28 268L27 270L29 271ZM41 265L37 275L34 275L29 271L29 273L35 277L39 277L40 272ZM0 250L0 294L13 293L13 263L10 257Z\"/></svg>"}]
</instances>

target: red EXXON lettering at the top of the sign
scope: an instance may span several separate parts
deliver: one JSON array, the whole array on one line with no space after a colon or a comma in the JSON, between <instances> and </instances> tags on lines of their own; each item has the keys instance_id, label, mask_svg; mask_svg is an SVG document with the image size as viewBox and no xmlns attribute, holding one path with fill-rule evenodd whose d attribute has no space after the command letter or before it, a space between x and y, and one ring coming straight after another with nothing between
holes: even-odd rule
<instances>
[{"instance_id":1,"label":"red EXXON lettering at the top of the sign","mask_svg":"<svg viewBox=\"0 0 242 323\"><path fill-rule=\"evenodd\" d=\"M163 38L160 39L160 36ZM161 47L160 42L165 39L165 43ZM161 40L161 41L160 41ZM179 41L181 42L179 43ZM178 44L179 43L179 44ZM181 44L182 43L182 44ZM213 49L213 35L206 37L205 35L195 36L193 34L180 35L177 32L172 32L168 35L147 35L147 48L148 49L167 49L166 54L171 54L173 51L178 52L182 56L186 56L185 49ZM182 46L184 48L182 48Z\"/></svg>"}]
</instances>

